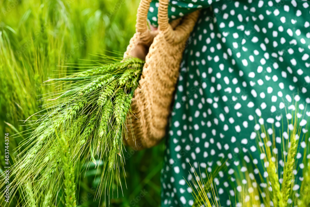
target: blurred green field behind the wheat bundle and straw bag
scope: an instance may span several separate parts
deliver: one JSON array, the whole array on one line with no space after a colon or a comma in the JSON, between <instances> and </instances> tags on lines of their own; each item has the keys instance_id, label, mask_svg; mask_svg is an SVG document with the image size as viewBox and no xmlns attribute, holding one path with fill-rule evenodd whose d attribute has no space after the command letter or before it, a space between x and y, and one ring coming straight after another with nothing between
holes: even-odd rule
<instances>
[{"instance_id":1,"label":"blurred green field behind the wheat bundle and straw bag","mask_svg":"<svg viewBox=\"0 0 310 207\"><path fill-rule=\"evenodd\" d=\"M35 127L21 120L44 110L48 103L38 100L55 90L42 82L77 70L68 63L89 63L85 60L96 60L96 53L125 52L135 32L138 4L139 0L0 0L0 132L12 137L11 164L23 155L18 156L23 149L17 147ZM20 136L13 138L15 133ZM115 188L113 198L111 193L110 206L160 205L163 149L163 143L137 152L126 148L126 184L122 180L122 190ZM0 150L0 173L3 166ZM104 197L94 200L99 173L94 164L81 172L79 206L105 206ZM22 206L18 194L15 200L12 206Z\"/></svg>"}]
</instances>

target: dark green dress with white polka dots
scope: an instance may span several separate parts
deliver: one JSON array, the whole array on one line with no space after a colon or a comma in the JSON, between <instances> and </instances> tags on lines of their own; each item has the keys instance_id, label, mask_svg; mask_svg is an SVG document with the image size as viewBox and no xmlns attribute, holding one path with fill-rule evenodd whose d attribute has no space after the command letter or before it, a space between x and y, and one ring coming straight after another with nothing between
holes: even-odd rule
<instances>
[{"instance_id":1,"label":"dark green dress with white polka dots","mask_svg":"<svg viewBox=\"0 0 310 207\"><path fill-rule=\"evenodd\" d=\"M153 26L157 7L153 1L148 13ZM167 131L163 207L193 205L185 181L191 165L206 178L205 168L211 173L223 164L214 182L221 205L230 206L236 172L264 173L256 141L261 124L281 151L282 136L288 136L282 130L294 115L301 136L310 116L309 1L173 0L169 18L197 9L202 10L184 51ZM303 156L297 158L302 168ZM281 165L281 155L279 160Z\"/></svg>"}]
</instances>

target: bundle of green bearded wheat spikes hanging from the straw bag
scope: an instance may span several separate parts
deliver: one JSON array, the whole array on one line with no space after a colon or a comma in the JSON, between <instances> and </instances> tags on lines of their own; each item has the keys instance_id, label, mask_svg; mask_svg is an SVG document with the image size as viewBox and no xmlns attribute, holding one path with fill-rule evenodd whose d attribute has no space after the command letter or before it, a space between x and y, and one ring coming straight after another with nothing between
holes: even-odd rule
<instances>
[{"instance_id":1,"label":"bundle of green bearded wheat spikes hanging from the straw bag","mask_svg":"<svg viewBox=\"0 0 310 207\"><path fill-rule=\"evenodd\" d=\"M95 157L104 162L97 195L113 186L113 176L120 181L120 173L124 170L124 122L144 61L104 58L108 64L45 81L63 90L48 97L51 107L36 122L38 127L27 139L29 149L13 168L15 190L21 191L23 186L20 194L24 199L40 198L29 205L55 202L56 195L48 196L49 188L65 185L66 205L75 206L74 172L78 174L80 169L74 169L81 162L96 163ZM68 174L66 169L71 169L71 174L64 179Z\"/></svg>"}]
</instances>

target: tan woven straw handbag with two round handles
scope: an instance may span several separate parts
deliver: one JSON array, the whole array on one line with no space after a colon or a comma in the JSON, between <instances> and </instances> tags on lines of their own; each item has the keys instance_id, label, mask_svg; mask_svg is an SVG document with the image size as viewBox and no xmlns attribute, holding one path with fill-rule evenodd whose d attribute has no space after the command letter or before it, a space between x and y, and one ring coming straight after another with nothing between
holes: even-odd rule
<instances>
[{"instance_id":1,"label":"tan woven straw handbag with two round handles","mask_svg":"<svg viewBox=\"0 0 310 207\"><path fill-rule=\"evenodd\" d=\"M149 47L139 86L127 115L124 143L138 150L157 145L166 133L179 65L187 39L199 16L195 11L183 19L168 22L169 0L160 0L158 29L149 31L147 14L151 0L141 0L137 12L136 33L124 57L138 44Z\"/></svg>"}]
</instances>

